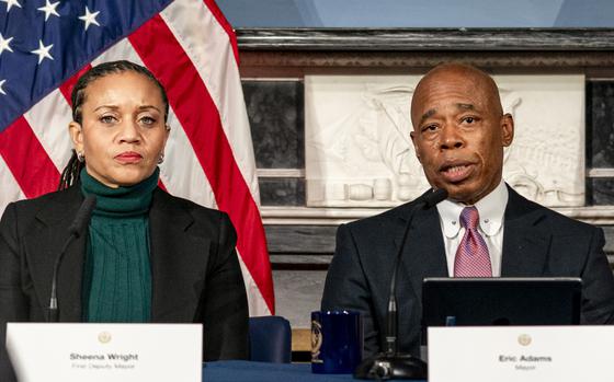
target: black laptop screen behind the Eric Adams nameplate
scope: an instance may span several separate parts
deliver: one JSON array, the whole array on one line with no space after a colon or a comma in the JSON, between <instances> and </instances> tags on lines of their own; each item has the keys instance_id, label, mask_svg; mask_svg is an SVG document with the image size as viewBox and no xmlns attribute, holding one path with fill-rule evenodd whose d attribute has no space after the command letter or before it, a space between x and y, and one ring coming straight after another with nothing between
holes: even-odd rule
<instances>
[{"instance_id":1,"label":"black laptop screen behind the Eric Adams nameplate","mask_svg":"<svg viewBox=\"0 0 614 382\"><path fill-rule=\"evenodd\" d=\"M578 325L581 299L580 278L425 278L422 327Z\"/></svg>"}]
</instances>

